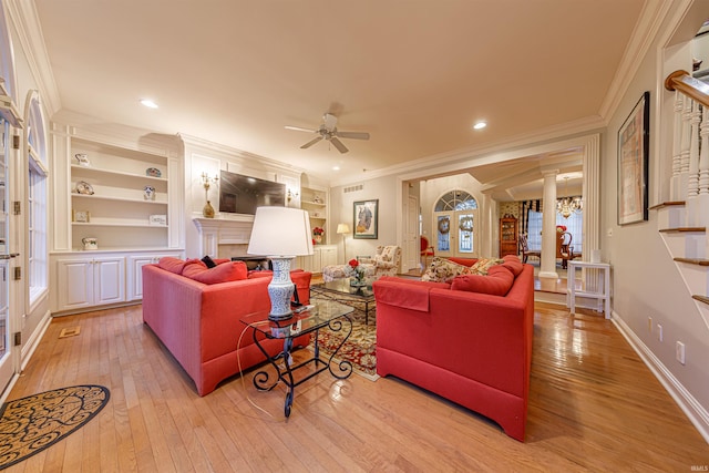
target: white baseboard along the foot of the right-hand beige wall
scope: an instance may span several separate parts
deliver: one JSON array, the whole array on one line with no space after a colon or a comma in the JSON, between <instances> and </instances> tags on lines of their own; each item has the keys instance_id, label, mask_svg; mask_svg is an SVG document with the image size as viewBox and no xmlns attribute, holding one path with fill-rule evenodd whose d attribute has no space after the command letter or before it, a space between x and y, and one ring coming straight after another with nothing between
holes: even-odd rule
<instances>
[{"instance_id":1,"label":"white baseboard along the foot of the right-hand beige wall","mask_svg":"<svg viewBox=\"0 0 709 473\"><path fill-rule=\"evenodd\" d=\"M689 421L697 428L705 441L709 443L709 412L685 389L682 383L675 378L671 371L653 353L647 345L630 330L617 312L613 312L612 320L623 337L630 343L630 347L638 353L643 362L645 362L653 374L655 374L655 378L665 387L669 395L677 402L677 405L679 405Z\"/></svg>"}]
</instances>

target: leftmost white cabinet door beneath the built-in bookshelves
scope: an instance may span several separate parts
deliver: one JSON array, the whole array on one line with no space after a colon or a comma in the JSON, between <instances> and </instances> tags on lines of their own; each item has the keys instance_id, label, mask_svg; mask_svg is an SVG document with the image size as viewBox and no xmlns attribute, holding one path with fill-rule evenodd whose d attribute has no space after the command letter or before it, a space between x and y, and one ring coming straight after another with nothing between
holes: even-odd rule
<instances>
[{"instance_id":1,"label":"leftmost white cabinet door beneath the built-in bookshelves","mask_svg":"<svg viewBox=\"0 0 709 473\"><path fill-rule=\"evenodd\" d=\"M93 264L91 259L56 261L59 309L79 309L93 305Z\"/></svg>"}]
</instances>

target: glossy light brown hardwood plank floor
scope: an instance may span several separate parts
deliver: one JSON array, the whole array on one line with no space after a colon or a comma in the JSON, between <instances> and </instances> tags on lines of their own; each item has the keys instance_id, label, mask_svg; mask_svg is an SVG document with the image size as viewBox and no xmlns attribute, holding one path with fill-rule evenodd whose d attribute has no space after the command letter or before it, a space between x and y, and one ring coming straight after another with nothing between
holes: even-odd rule
<instances>
[{"instance_id":1,"label":"glossy light brown hardwood plank floor","mask_svg":"<svg viewBox=\"0 0 709 473\"><path fill-rule=\"evenodd\" d=\"M75 337L59 338L64 328ZM537 304L526 442L403 381L323 373L257 392L247 373L199 398L141 306L55 318L9 399L97 383L111 401L9 472L690 471L709 445L615 326ZM256 409L249 399L264 409Z\"/></svg>"}]
</instances>

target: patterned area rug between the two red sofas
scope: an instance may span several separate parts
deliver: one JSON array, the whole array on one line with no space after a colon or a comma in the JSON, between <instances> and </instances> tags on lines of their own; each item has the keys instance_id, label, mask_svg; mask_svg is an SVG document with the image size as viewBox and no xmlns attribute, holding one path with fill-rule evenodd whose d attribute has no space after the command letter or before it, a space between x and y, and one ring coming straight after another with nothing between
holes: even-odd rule
<instances>
[{"instance_id":1,"label":"patterned area rug between the two red sofas","mask_svg":"<svg viewBox=\"0 0 709 473\"><path fill-rule=\"evenodd\" d=\"M311 299L337 300L346 304L354 310L348 316L352 320L352 333L347 339L342 348L337 352L335 361L349 361L353 370L371 381L379 379L377 374L377 310L370 304L369 323L364 325L364 304L356 300L343 299L341 296L333 297L331 294L318 291L311 292ZM320 353L330 357L342 342L345 335L330 329L320 330L318 345Z\"/></svg>"}]
</instances>

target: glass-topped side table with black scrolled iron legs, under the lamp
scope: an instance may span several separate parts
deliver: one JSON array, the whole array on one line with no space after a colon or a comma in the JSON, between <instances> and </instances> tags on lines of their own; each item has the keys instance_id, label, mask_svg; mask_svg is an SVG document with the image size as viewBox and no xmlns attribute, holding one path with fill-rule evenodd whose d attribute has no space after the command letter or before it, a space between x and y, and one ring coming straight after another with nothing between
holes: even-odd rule
<instances>
[{"instance_id":1,"label":"glass-topped side table with black scrolled iron legs, under the lamp","mask_svg":"<svg viewBox=\"0 0 709 473\"><path fill-rule=\"evenodd\" d=\"M332 359L352 333L352 320L348 317L348 313L354 309L335 300L319 301L308 307L312 308L300 313L294 313L291 318L280 321L268 320L268 310L249 313L242 318L244 323L254 329L254 342L261 353L264 353L268 363L276 369L276 379L273 380L270 373L266 370L254 373L254 385L259 391L270 391L278 382L286 384L288 388L284 407L286 417L290 415L290 408L297 385L302 384L325 370L329 370L330 374L337 379L346 379L352 374L352 363L346 360L340 361L336 363L337 371L335 371L332 369ZM348 330L348 332L332 354L328 359L322 359L320 358L318 336L320 329L326 327L332 331ZM284 340L284 350L275 357L268 354L264 347L261 347L258 337L259 333L264 335L267 339ZM292 339L307 333L315 333L314 356L294 366L292 357L290 356ZM282 363L278 363L279 360L282 360ZM302 368L307 368L311 363L315 364L311 371L307 372L304 377L296 378L294 373Z\"/></svg>"}]
</instances>

